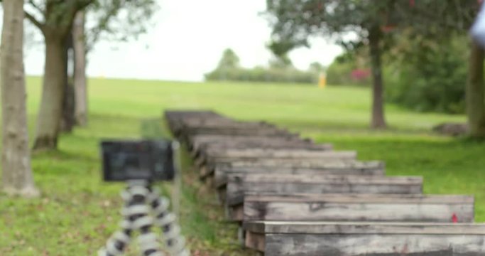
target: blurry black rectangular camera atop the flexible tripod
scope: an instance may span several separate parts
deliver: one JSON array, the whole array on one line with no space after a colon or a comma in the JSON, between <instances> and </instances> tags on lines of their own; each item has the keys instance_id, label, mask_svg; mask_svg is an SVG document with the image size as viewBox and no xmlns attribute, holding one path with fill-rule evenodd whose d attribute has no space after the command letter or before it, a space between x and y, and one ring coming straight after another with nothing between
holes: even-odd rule
<instances>
[{"instance_id":1,"label":"blurry black rectangular camera atop the flexible tripod","mask_svg":"<svg viewBox=\"0 0 485 256\"><path fill-rule=\"evenodd\" d=\"M104 140L104 181L172 181L175 149L170 140Z\"/></svg>"}]
</instances>

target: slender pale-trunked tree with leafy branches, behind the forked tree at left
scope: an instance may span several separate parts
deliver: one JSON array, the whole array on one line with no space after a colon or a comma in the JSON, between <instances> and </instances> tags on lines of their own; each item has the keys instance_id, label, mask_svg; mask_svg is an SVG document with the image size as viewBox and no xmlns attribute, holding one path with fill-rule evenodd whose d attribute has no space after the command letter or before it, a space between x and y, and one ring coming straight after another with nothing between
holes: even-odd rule
<instances>
[{"instance_id":1,"label":"slender pale-trunked tree with leafy branches, behind the forked tree at left","mask_svg":"<svg viewBox=\"0 0 485 256\"><path fill-rule=\"evenodd\" d=\"M97 0L86 11L78 11L72 26L72 47L74 52L73 95L74 110L72 117L65 115L65 119L75 120L75 124L87 125L88 93L86 65L87 54L94 48L97 41L103 39L112 42L129 41L145 33L151 25L151 17L158 11L155 0ZM90 26L85 23L89 16ZM70 88L70 87L67 87ZM65 102L69 102L68 100Z\"/></svg>"}]
</instances>

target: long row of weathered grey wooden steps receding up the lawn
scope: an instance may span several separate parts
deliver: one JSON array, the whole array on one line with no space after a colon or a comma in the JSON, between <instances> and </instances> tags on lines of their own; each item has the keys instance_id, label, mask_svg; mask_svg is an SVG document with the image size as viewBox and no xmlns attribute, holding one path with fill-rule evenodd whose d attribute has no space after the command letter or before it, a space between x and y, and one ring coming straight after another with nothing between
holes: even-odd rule
<instances>
[{"instance_id":1,"label":"long row of weathered grey wooden steps receding up the lawn","mask_svg":"<svg viewBox=\"0 0 485 256\"><path fill-rule=\"evenodd\" d=\"M485 255L472 196L423 195L423 179L384 176L266 122L211 111L167 111L200 178L214 186L245 245L264 255Z\"/></svg>"}]
</instances>

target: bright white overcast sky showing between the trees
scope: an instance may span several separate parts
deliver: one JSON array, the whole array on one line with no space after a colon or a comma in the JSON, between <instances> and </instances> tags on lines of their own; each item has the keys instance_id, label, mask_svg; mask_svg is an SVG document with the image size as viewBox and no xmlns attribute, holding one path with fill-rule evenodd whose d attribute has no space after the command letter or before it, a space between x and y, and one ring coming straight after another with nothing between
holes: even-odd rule
<instances>
[{"instance_id":1,"label":"bright white overcast sky showing between the trees","mask_svg":"<svg viewBox=\"0 0 485 256\"><path fill-rule=\"evenodd\" d=\"M271 28L259 13L263 0L159 0L160 11L149 32L129 43L99 42L89 54L92 77L156 80L203 80L225 48L239 55L247 68L266 65L271 53L265 44ZM30 31L32 28L30 29ZM342 52L339 46L312 39L312 47L290 53L295 66L314 61L329 65ZM43 73L43 46L26 50L26 73Z\"/></svg>"}]
</instances>

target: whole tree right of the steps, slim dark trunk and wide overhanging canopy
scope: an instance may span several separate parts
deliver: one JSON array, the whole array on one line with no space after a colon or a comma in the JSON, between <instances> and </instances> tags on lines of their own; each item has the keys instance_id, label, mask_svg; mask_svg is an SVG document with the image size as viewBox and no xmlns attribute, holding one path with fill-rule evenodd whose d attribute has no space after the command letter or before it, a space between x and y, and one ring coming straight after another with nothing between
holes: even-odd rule
<instances>
[{"instance_id":1,"label":"whole tree right of the steps, slim dark trunk and wide overhanging canopy","mask_svg":"<svg viewBox=\"0 0 485 256\"><path fill-rule=\"evenodd\" d=\"M284 54L308 46L309 36L322 35L337 36L346 48L367 46L373 76L371 127L383 128L381 56L393 45L393 34L409 28L417 34L465 31L475 17L477 5L476 0L267 0L273 26L271 48L274 53ZM346 41L344 36L349 32L356 38Z\"/></svg>"}]
</instances>

